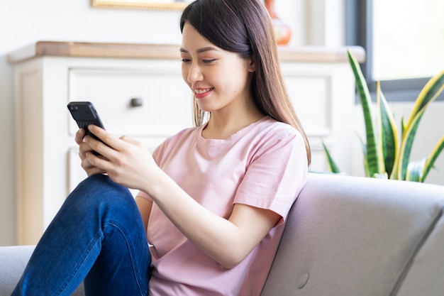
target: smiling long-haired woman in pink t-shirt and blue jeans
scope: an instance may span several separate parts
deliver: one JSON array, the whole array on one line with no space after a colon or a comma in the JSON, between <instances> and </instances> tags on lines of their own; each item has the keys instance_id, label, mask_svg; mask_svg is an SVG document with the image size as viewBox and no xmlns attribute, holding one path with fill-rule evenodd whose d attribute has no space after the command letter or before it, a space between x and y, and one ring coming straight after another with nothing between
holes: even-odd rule
<instances>
[{"instance_id":1,"label":"smiling long-haired woman in pink t-shirt and blue jeans","mask_svg":"<svg viewBox=\"0 0 444 296\"><path fill-rule=\"evenodd\" d=\"M196 0L180 28L196 127L152 155L97 126L88 128L108 146L79 130L89 177L13 295L70 295L82 280L87 295L260 295L306 181L309 143L260 0Z\"/></svg>"}]
</instances>

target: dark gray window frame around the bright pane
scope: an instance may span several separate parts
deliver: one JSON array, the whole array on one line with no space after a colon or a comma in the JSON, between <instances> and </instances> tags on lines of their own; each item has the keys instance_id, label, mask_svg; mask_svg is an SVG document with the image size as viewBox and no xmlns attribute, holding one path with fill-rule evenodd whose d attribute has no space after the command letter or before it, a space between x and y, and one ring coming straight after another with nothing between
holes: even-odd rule
<instances>
[{"instance_id":1,"label":"dark gray window frame around the bright pane","mask_svg":"<svg viewBox=\"0 0 444 296\"><path fill-rule=\"evenodd\" d=\"M365 49L366 58L362 63L362 74L367 86L376 97L376 81L373 79L373 0L345 0L345 45L358 45ZM414 102L421 89L431 77L404 80L382 80L381 89L387 102ZM444 92L438 101L444 101Z\"/></svg>"}]
</instances>

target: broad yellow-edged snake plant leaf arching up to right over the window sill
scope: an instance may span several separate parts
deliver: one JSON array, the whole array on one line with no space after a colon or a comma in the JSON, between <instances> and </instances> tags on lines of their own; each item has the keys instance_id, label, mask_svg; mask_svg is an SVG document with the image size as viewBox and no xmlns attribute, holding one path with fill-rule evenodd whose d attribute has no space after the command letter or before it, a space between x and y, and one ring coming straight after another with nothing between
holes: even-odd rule
<instances>
[{"instance_id":1,"label":"broad yellow-edged snake plant leaf arching up to right over the window sill","mask_svg":"<svg viewBox=\"0 0 444 296\"><path fill-rule=\"evenodd\" d=\"M433 102L436 97L444 89L444 71L435 75L430 80L428 80L426 86L423 87L418 98L416 99L414 109L411 111L409 120L404 126L404 131L401 138L401 147L399 152L399 158L396 158L394 165L394 175L396 179L405 180L407 166L409 165L409 158L411 153L411 148L413 146L414 137L416 130L418 129L418 124L426 111L426 108L431 102ZM404 125L404 124L403 124Z\"/></svg>"}]
</instances>

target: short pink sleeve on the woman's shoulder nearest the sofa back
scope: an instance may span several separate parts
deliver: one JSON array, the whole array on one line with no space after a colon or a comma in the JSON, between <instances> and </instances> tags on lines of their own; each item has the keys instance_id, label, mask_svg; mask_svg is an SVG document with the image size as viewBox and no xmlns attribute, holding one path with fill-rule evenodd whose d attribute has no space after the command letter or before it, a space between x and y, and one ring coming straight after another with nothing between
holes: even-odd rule
<instances>
[{"instance_id":1,"label":"short pink sleeve on the woman's shoulder nearest the sofa back","mask_svg":"<svg viewBox=\"0 0 444 296\"><path fill-rule=\"evenodd\" d=\"M308 164L304 139L296 130L277 136L257 153L238 187L234 203L270 209L287 218L306 182Z\"/></svg>"}]
</instances>

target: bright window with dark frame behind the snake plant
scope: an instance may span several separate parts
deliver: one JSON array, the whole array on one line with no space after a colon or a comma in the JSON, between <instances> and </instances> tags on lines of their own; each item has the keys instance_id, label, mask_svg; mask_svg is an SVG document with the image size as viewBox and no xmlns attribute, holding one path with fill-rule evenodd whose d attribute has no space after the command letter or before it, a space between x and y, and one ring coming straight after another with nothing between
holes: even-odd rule
<instances>
[{"instance_id":1,"label":"bright window with dark frame behind the snake plant","mask_svg":"<svg viewBox=\"0 0 444 296\"><path fill-rule=\"evenodd\" d=\"M389 101L414 100L428 79L444 70L443 0L345 3L346 43L365 48L361 66L371 92L379 80Z\"/></svg>"}]
</instances>

